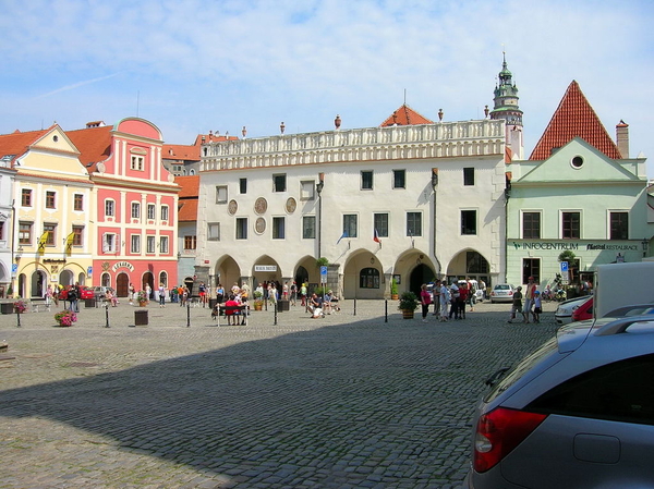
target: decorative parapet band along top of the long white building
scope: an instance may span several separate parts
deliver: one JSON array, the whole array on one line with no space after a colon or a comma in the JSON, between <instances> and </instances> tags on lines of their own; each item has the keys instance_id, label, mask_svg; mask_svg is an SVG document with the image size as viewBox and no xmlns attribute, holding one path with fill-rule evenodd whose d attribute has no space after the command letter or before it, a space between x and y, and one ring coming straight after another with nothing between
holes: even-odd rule
<instances>
[{"instance_id":1,"label":"decorative parapet band along top of the long white building","mask_svg":"<svg viewBox=\"0 0 654 489\"><path fill-rule=\"evenodd\" d=\"M481 120L210 143L201 170L499 155L504 127L504 120Z\"/></svg>"}]
</instances>

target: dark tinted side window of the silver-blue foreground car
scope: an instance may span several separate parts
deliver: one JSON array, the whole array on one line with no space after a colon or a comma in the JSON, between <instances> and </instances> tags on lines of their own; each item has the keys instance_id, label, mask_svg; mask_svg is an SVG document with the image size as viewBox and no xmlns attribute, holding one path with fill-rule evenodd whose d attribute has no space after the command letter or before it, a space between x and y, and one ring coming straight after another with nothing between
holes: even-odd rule
<instances>
[{"instance_id":1,"label":"dark tinted side window of the silver-blue foreground car","mask_svg":"<svg viewBox=\"0 0 654 489\"><path fill-rule=\"evenodd\" d=\"M526 409L652 425L654 355L603 365L578 375L533 401Z\"/></svg>"}]
</instances>

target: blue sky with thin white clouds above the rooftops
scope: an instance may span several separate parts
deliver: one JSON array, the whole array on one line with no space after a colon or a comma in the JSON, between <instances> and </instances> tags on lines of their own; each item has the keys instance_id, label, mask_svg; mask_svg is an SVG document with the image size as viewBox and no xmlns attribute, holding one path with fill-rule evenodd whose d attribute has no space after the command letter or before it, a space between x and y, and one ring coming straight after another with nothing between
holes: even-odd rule
<instances>
[{"instance_id":1,"label":"blue sky with thin white clouds above the rooftops","mask_svg":"<svg viewBox=\"0 0 654 489\"><path fill-rule=\"evenodd\" d=\"M167 143L483 118L506 50L529 156L577 80L654 178L649 0L0 0L0 133L138 115Z\"/></svg>"}]
</instances>

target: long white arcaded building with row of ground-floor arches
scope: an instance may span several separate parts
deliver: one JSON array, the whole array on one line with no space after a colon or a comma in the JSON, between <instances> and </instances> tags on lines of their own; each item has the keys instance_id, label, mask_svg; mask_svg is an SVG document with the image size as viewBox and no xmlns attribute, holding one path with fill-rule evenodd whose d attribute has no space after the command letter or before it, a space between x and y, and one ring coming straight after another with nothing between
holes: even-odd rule
<instances>
[{"instance_id":1,"label":"long white arcaded building with row of ground-floor arches","mask_svg":"<svg viewBox=\"0 0 654 489\"><path fill-rule=\"evenodd\" d=\"M335 122L203 146L197 280L318 284L318 258L346 298L387 297L393 277L400 292L504 279L504 120L433 123L404 105L379 127Z\"/></svg>"}]
</instances>

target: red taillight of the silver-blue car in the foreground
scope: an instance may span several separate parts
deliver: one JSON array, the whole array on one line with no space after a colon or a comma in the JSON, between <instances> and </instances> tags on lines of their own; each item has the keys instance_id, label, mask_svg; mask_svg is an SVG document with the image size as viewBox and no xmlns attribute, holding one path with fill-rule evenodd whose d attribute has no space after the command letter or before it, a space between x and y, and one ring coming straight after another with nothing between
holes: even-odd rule
<instances>
[{"instance_id":1,"label":"red taillight of the silver-blue car in the foreground","mask_svg":"<svg viewBox=\"0 0 654 489\"><path fill-rule=\"evenodd\" d=\"M547 415L498 407L480 417L474 437L473 466L479 473L497 465Z\"/></svg>"}]
</instances>

